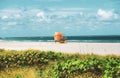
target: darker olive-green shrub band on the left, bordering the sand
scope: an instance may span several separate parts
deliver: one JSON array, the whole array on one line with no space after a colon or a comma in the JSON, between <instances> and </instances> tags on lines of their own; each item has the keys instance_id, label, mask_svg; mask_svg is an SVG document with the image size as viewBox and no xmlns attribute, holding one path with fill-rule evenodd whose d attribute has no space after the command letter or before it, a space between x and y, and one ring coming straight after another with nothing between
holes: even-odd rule
<instances>
[{"instance_id":1,"label":"darker olive-green shrub band on the left, bordering the sand","mask_svg":"<svg viewBox=\"0 0 120 78\"><path fill-rule=\"evenodd\" d=\"M52 51L25 50L11 52L6 50L0 54L0 68L42 65L47 64L49 60L54 61L61 58L63 58L61 53L54 53Z\"/></svg>"}]
</instances>

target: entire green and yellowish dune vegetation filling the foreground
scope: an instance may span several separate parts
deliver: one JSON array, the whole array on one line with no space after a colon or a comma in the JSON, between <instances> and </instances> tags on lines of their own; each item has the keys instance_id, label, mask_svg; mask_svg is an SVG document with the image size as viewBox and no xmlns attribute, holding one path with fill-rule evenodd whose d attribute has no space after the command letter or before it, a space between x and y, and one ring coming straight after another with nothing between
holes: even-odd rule
<instances>
[{"instance_id":1,"label":"entire green and yellowish dune vegetation filling the foreground","mask_svg":"<svg viewBox=\"0 0 120 78\"><path fill-rule=\"evenodd\" d=\"M120 78L120 56L0 49L0 78Z\"/></svg>"}]
</instances>

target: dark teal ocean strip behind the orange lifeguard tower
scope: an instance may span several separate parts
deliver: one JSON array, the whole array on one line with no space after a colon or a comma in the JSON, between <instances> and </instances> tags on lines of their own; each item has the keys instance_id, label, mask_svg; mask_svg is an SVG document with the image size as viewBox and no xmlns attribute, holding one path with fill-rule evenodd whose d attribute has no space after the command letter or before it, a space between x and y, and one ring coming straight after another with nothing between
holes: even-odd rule
<instances>
[{"instance_id":1,"label":"dark teal ocean strip behind the orange lifeguard tower","mask_svg":"<svg viewBox=\"0 0 120 78\"><path fill-rule=\"evenodd\" d=\"M84 43L120 43L120 36L65 36L67 42ZM39 37L4 37L0 41L19 41L19 42L54 42L53 36Z\"/></svg>"}]
</instances>

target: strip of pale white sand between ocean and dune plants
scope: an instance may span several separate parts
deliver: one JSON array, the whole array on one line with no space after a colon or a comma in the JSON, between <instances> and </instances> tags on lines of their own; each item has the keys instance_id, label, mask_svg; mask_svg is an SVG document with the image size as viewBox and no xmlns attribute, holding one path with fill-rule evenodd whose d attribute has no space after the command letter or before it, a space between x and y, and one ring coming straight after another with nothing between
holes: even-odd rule
<instances>
[{"instance_id":1,"label":"strip of pale white sand between ocean and dune plants","mask_svg":"<svg viewBox=\"0 0 120 78\"><path fill-rule=\"evenodd\" d=\"M120 55L120 43L65 43L54 42L6 42L0 41L0 48L10 50L38 49L43 51L57 51L82 54L115 54Z\"/></svg>"}]
</instances>

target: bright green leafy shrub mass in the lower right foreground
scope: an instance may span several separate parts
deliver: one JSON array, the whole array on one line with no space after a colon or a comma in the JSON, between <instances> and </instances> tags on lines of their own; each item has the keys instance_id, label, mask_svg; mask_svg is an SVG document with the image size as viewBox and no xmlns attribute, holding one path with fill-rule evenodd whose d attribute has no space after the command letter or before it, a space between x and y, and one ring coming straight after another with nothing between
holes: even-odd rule
<instances>
[{"instance_id":1,"label":"bright green leafy shrub mass in the lower right foreground","mask_svg":"<svg viewBox=\"0 0 120 78\"><path fill-rule=\"evenodd\" d=\"M118 78L120 77L120 58L98 59L91 57L86 60L67 60L58 62L54 70L58 78L70 78L76 73L83 74L88 72L95 75L102 74L104 78Z\"/></svg>"}]
</instances>

